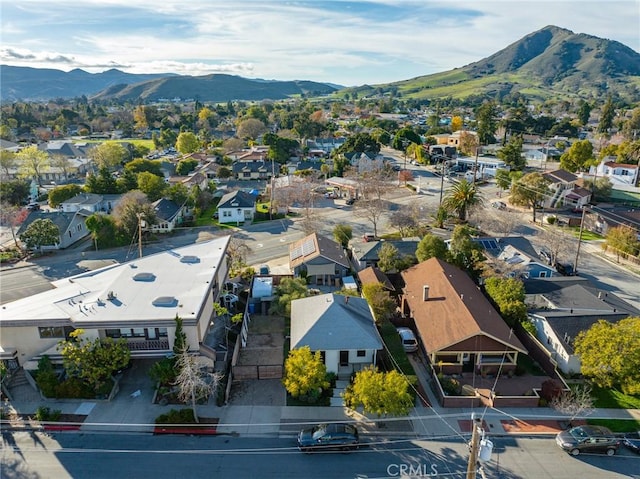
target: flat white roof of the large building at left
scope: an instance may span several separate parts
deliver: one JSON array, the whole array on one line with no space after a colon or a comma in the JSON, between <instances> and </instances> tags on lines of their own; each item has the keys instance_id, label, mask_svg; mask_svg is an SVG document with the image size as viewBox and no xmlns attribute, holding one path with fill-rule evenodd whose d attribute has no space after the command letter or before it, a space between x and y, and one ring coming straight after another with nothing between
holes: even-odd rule
<instances>
[{"instance_id":1,"label":"flat white roof of the large building at left","mask_svg":"<svg viewBox=\"0 0 640 479\"><path fill-rule=\"evenodd\" d=\"M31 321L84 324L195 318L229 236L107 266L53 282L54 289L6 303L0 326ZM95 327L92 324L93 327Z\"/></svg>"}]
</instances>

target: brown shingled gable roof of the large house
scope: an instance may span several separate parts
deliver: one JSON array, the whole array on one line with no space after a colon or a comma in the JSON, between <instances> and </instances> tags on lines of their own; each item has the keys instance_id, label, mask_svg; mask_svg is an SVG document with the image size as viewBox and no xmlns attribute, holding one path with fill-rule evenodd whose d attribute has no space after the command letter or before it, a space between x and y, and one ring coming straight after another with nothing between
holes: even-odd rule
<instances>
[{"instance_id":1,"label":"brown shingled gable roof of the large house","mask_svg":"<svg viewBox=\"0 0 640 479\"><path fill-rule=\"evenodd\" d=\"M461 269L431 258L404 271L402 277L403 300L429 353L470 351L475 346L481 351L504 352L507 347L526 354L500 314ZM429 286L427 301L423 299L425 285Z\"/></svg>"}]
</instances>

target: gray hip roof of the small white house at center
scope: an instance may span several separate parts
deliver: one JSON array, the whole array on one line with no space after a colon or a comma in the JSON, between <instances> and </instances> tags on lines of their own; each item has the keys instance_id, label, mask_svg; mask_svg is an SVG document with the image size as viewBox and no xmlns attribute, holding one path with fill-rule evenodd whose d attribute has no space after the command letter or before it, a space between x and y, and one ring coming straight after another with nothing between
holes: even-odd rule
<instances>
[{"instance_id":1,"label":"gray hip roof of the small white house at center","mask_svg":"<svg viewBox=\"0 0 640 479\"><path fill-rule=\"evenodd\" d=\"M367 301L333 293L291 302L291 349L312 351L382 349Z\"/></svg>"}]
</instances>

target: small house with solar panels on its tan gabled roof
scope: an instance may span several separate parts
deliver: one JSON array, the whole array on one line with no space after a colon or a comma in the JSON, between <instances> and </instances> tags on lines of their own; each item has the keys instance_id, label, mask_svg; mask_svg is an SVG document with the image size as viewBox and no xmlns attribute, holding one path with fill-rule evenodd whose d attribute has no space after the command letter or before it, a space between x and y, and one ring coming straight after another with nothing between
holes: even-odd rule
<instances>
[{"instance_id":1,"label":"small house with solar panels on its tan gabled roof","mask_svg":"<svg viewBox=\"0 0 640 479\"><path fill-rule=\"evenodd\" d=\"M338 284L351 268L339 243L312 233L289 245L289 269L312 284Z\"/></svg>"}]
</instances>

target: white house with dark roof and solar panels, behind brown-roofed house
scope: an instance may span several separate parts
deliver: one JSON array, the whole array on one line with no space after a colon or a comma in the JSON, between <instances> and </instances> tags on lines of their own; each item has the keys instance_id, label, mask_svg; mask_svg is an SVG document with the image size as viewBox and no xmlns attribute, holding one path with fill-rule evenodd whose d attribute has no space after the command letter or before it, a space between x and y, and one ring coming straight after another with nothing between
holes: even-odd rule
<instances>
[{"instance_id":1,"label":"white house with dark roof and solar panels, behind brown-roofed house","mask_svg":"<svg viewBox=\"0 0 640 479\"><path fill-rule=\"evenodd\" d=\"M550 278L558 274L523 236L482 237L473 241L484 248L494 268L505 276L527 280Z\"/></svg>"}]
</instances>

